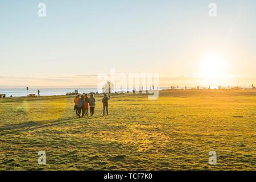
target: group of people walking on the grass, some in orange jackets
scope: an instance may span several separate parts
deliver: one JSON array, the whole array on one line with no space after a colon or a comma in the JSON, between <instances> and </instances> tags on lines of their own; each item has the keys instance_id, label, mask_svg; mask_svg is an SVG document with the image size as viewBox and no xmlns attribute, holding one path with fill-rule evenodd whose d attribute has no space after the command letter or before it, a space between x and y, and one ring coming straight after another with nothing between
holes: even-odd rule
<instances>
[{"instance_id":1,"label":"group of people walking on the grass, some in orange jackets","mask_svg":"<svg viewBox=\"0 0 256 182\"><path fill-rule=\"evenodd\" d=\"M102 98L102 104L103 104L103 115L105 115L105 110L106 110L106 114L109 114L109 110L108 110L108 105L109 105L109 100L110 100L110 96L106 96L106 94L104 94L104 97ZM93 116L94 114L94 108L96 106L96 100L93 97L93 94L90 94L90 97L88 97L87 94L84 95L77 95L76 98L74 99L74 110L76 111L76 115L78 115L79 118L81 118L81 113L82 113L82 117L84 117L85 115L88 116L88 111L90 109L90 116Z\"/></svg>"}]
</instances>

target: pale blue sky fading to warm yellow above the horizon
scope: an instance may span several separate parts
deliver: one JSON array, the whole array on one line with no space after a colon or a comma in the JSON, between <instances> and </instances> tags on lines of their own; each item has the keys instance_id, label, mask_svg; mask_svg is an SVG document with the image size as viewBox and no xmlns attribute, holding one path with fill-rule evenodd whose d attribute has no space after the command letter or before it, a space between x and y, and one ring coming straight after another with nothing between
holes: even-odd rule
<instances>
[{"instance_id":1,"label":"pale blue sky fading to warm yellow above the horizon","mask_svg":"<svg viewBox=\"0 0 256 182\"><path fill-rule=\"evenodd\" d=\"M159 73L160 86L249 86L255 32L254 0L0 0L0 86L86 87L110 69Z\"/></svg>"}]
</instances>

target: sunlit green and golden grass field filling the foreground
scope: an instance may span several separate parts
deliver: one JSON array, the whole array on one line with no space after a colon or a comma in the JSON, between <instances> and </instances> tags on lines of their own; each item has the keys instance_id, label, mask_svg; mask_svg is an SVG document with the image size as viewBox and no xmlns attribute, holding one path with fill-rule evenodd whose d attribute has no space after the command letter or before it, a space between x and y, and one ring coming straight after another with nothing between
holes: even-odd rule
<instances>
[{"instance_id":1,"label":"sunlit green and golden grass field filling the foreground","mask_svg":"<svg viewBox=\"0 0 256 182\"><path fill-rule=\"evenodd\" d=\"M164 91L158 100L117 94L105 117L101 97L85 118L69 96L0 99L0 169L256 169L255 91Z\"/></svg>"}]
</instances>

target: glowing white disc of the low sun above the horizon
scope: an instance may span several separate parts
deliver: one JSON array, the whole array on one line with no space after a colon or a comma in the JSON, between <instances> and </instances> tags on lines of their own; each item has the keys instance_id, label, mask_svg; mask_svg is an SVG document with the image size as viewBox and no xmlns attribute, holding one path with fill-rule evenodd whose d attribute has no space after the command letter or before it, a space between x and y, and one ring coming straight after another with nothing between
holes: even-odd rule
<instances>
[{"instance_id":1,"label":"glowing white disc of the low sun above the horizon","mask_svg":"<svg viewBox=\"0 0 256 182\"><path fill-rule=\"evenodd\" d=\"M226 76L226 60L220 55L208 55L205 57L201 71L203 77L216 80Z\"/></svg>"}]
</instances>

